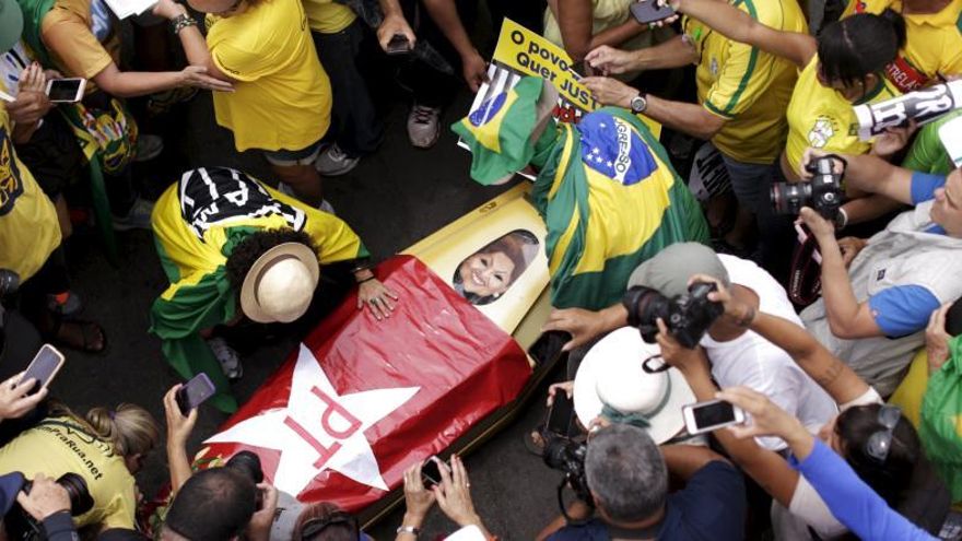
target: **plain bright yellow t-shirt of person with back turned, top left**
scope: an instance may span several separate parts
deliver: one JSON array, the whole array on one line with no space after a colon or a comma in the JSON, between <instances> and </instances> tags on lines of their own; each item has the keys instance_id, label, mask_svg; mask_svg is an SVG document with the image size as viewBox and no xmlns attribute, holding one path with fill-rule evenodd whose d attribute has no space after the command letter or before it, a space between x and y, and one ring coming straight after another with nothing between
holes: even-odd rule
<instances>
[{"instance_id":1,"label":"plain bright yellow t-shirt of person with back turned, top left","mask_svg":"<svg viewBox=\"0 0 962 541\"><path fill-rule=\"evenodd\" d=\"M330 80L300 0L266 0L237 15L208 15L214 64L234 92L214 92L218 124L238 151L305 149L330 126Z\"/></svg>"}]
</instances>

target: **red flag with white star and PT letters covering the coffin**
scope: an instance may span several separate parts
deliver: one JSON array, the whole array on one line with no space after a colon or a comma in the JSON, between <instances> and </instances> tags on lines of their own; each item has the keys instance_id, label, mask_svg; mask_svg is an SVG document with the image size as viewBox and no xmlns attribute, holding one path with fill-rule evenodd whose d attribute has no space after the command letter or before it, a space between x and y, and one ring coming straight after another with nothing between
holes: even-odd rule
<instances>
[{"instance_id":1,"label":"red flag with white star and PT letters covering the coffin","mask_svg":"<svg viewBox=\"0 0 962 541\"><path fill-rule=\"evenodd\" d=\"M517 398L531 368L511 336L413 257L386 261L378 277L400 296L391 317L377 321L347 298L206 442L197 466L251 450L279 490L357 511Z\"/></svg>"}]
</instances>

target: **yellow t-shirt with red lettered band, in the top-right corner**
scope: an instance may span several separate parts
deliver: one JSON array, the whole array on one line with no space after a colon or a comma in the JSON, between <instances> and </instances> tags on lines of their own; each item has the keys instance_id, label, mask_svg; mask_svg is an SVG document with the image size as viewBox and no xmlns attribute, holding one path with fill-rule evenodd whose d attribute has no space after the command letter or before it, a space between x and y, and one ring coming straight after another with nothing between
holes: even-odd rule
<instances>
[{"instance_id":1,"label":"yellow t-shirt with red lettered band, in the top-right corner","mask_svg":"<svg viewBox=\"0 0 962 541\"><path fill-rule=\"evenodd\" d=\"M849 0L843 17L855 13L879 14L891 8L902 12L901 0ZM889 64L887 75L900 92L911 92L962 74L962 0L952 0L938 13L903 14L905 47Z\"/></svg>"}]
</instances>

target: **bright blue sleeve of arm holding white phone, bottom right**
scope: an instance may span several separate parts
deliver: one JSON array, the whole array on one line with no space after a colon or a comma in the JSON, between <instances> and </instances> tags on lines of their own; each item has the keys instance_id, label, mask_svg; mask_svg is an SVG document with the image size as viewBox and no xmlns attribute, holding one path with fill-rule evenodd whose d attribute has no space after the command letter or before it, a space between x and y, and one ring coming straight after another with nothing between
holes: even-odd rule
<instances>
[{"instance_id":1,"label":"bright blue sleeve of arm holding white phone, bottom right","mask_svg":"<svg viewBox=\"0 0 962 541\"><path fill-rule=\"evenodd\" d=\"M842 457L820 440L816 439L808 458L799 462L790 457L789 463L805 475L832 515L859 538L866 541L938 541L892 510Z\"/></svg>"}]
</instances>

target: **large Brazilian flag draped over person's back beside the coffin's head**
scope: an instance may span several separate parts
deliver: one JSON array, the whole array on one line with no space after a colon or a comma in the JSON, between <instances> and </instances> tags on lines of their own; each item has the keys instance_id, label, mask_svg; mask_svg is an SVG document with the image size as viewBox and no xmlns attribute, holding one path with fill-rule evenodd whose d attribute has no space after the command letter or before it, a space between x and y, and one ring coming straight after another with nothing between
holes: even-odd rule
<instances>
[{"instance_id":1,"label":"large Brazilian flag draped over person's back beside the coffin's head","mask_svg":"<svg viewBox=\"0 0 962 541\"><path fill-rule=\"evenodd\" d=\"M611 306L635 267L661 248L708 242L701 207L665 149L623 109L605 107L576 126L560 125L544 163L536 165L542 167L532 196L548 226L556 308Z\"/></svg>"}]
</instances>

